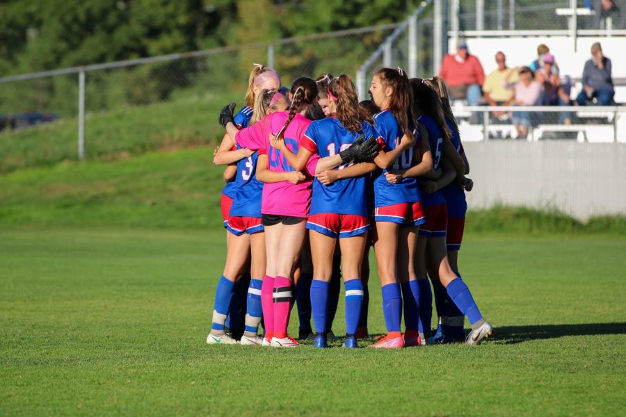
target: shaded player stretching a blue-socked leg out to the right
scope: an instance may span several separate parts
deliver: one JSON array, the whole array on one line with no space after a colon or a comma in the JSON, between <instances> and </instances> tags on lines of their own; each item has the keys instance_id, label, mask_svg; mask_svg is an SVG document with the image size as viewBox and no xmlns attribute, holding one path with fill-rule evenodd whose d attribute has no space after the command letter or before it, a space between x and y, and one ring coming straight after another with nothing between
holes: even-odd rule
<instances>
[{"instance_id":1,"label":"shaded player stretching a blue-socked leg out to the right","mask_svg":"<svg viewBox=\"0 0 626 417\"><path fill-rule=\"evenodd\" d=\"M418 121L426 129L420 129L423 140L428 140L435 156L433 170L426 174L428 179L438 179L441 175L436 172L441 162L442 155L451 163L456 170L456 177L463 180L465 165L451 142L451 131L444 120L441 100L437 93L428 87L422 79L411 79L413 98L415 99L415 111ZM410 175L410 172L406 174ZM417 239L416 265L418 265L418 279L426 281L426 274L419 265L426 265L428 275L435 285L435 297L438 295L437 284L440 283L447 295L460 310L460 314L467 316L472 325L472 332L467 335L466 343L477 345L483 338L493 334L492 325L483 318L469 288L454 270L450 267L445 240L445 228L447 226L447 208L445 199L438 190L433 193L422 193L422 201L426 211L426 224L420 229ZM424 262L425 261L425 262ZM426 281L427 282L427 281ZM440 302L444 302L444 297ZM420 322L424 334L424 343L433 343L430 316L422 315L420 306Z\"/></svg>"}]
</instances>

